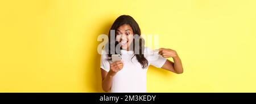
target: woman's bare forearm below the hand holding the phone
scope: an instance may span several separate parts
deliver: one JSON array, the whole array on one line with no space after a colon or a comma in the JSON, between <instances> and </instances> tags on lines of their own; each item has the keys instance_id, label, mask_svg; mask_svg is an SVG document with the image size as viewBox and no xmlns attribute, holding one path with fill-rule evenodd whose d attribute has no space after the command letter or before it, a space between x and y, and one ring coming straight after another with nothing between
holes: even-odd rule
<instances>
[{"instance_id":1,"label":"woman's bare forearm below the hand holding the phone","mask_svg":"<svg viewBox=\"0 0 256 104\"><path fill-rule=\"evenodd\" d=\"M105 79L102 81L102 89L108 92L112 86L112 77L109 74L106 75Z\"/></svg>"}]
</instances>

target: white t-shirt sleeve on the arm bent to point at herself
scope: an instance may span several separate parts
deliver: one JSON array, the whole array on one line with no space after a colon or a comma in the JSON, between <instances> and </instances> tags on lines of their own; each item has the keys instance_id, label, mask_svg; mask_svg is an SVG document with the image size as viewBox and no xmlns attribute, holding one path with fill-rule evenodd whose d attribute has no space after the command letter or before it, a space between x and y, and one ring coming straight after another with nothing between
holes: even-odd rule
<instances>
[{"instance_id":1,"label":"white t-shirt sleeve on the arm bent to point at herself","mask_svg":"<svg viewBox=\"0 0 256 104\"><path fill-rule=\"evenodd\" d=\"M145 48L145 56L148 60L148 63L150 63L152 66L161 68L164 63L166 63L166 58L163 58L162 55L159 55L158 52L154 52L150 48Z\"/></svg>"}]
</instances>

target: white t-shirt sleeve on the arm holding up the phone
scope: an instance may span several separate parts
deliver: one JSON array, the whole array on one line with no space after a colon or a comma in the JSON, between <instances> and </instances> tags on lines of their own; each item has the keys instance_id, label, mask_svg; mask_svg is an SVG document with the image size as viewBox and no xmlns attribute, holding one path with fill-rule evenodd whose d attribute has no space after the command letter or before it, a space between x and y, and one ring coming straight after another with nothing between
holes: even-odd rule
<instances>
[{"instance_id":1,"label":"white t-shirt sleeve on the arm holding up the phone","mask_svg":"<svg viewBox=\"0 0 256 104\"><path fill-rule=\"evenodd\" d=\"M107 59L108 59L108 54L106 54L105 50L102 50L102 53L101 53L101 68L103 70L105 70L106 72L109 72L110 64L109 64L109 61Z\"/></svg>"}]
</instances>

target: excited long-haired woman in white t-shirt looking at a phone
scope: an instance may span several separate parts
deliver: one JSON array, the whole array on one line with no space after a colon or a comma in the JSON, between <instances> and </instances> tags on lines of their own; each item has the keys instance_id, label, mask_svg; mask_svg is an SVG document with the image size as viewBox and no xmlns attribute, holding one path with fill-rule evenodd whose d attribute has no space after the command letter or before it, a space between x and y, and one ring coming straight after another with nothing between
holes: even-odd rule
<instances>
[{"instance_id":1,"label":"excited long-haired woman in white t-shirt looking at a phone","mask_svg":"<svg viewBox=\"0 0 256 104\"><path fill-rule=\"evenodd\" d=\"M111 30L115 32L115 40L108 42L108 48L101 55L102 89L105 92L146 92L146 74L150 64L174 73L183 73L181 60L175 50L160 48L158 54L152 55L154 51L144 47L143 39L135 37L135 34L141 36L141 30L131 16L119 16ZM135 45L136 42L139 45ZM121 54L121 61L112 62L111 45L120 45L114 48L114 53ZM166 58L173 58L174 62Z\"/></svg>"}]
</instances>

